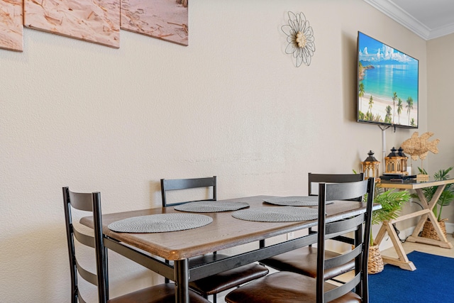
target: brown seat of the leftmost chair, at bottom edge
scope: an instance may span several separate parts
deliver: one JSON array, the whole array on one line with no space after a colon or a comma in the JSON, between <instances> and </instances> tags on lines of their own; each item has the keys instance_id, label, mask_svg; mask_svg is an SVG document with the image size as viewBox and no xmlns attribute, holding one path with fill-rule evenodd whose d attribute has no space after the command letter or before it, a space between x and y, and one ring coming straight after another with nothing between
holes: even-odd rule
<instances>
[{"instance_id":1,"label":"brown seat of the leftmost chair, at bottom edge","mask_svg":"<svg viewBox=\"0 0 454 303\"><path fill-rule=\"evenodd\" d=\"M192 291L189 291L189 301L191 303L209 303L207 299ZM175 285L166 283L144 288L143 290L109 299L107 303L175 303Z\"/></svg>"}]
</instances>

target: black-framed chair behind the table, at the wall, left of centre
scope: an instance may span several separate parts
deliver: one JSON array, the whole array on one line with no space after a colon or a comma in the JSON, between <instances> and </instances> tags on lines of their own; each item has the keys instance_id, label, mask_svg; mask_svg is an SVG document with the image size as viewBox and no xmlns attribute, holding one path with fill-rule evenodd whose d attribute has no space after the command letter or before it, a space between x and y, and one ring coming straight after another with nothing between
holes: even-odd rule
<instances>
[{"instance_id":1,"label":"black-framed chair behind the table, at the wall, left of centre","mask_svg":"<svg viewBox=\"0 0 454 303\"><path fill-rule=\"evenodd\" d=\"M162 207L192 202L170 203L167 199L167 191L204 187L208 189L211 188L211 190L207 192L208 195L206 199L199 199L197 201L216 201L216 176L194 179L161 179ZM213 254L190 258L189 266L194 266L200 263L209 263L227 257L228 255L214 252ZM265 266L251 263L232 270L226 270L225 272L218 273L217 275L211 275L209 277L189 282L189 287L201 294L204 298L208 298L209 295L213 295L213 302L216 303L216 296L218 293L230 290L233 287L238 287L244 283L258 279L259 277L263 277L267 275L268 272L269 270ZM168 281L166 280L166 282Z\"/></svg>"}]
</instances>

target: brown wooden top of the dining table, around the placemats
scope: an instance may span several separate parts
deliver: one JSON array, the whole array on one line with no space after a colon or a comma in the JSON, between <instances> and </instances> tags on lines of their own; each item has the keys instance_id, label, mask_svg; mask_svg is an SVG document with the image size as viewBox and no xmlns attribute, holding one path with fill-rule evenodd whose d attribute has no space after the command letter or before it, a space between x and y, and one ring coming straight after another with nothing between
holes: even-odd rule
<instances>
[{"instance_id":1,"label":"brown wooden top of the dining table, around the placemats","mask_svg":"<svg viewBox=\"0 0 454 303\"><path fill-rule=\"evenodd\" d=\"M263 202L270 196L255 196L228 201L247 202L250 207L281 207ZM216 202L213 202L216 203ZM306 206L305 206L306 207ZM317 206L311 206L317 208ZM358 212L365 211L362 202L334 202L326 206L328 221L343 219ZM211 216L213 222L206 226L189 229L186 231L172 231L167 233L117 233L107 226L121 219L133 216L146 216L150 214L182 213L172 206L167 208L143 209L126 211L116 214L104 214L103 232L106 236L127 243L136 248L147 251L153 255L167 260L183 260L196 255L211 253L217 250L240 246L245 243L260 241L273 236L279 236L291 231L316 226L316 220L301 222L256 222L244 221L233 218L232 211L217 213L203 213ZM81 224L93 228L92 217L84 217Z\"/></svg>"}]
</instances>

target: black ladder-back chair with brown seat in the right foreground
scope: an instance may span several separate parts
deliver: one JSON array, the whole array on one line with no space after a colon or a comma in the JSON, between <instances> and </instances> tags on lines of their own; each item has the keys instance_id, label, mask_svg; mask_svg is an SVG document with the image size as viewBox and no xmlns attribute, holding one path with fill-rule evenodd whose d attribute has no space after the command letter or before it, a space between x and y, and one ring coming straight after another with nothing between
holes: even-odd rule
<instances>
[{"instance_id":1,"label":"black ladder-back chair with brown seat in the right foreground","mask_svg":"<svg viewBox=\"0 0 454 303\"><path fill-rule=\"evenodd\" d=\"M367 282L367 259L369 250L374 178L365 181L319 184L319 221L317 234L317 275L309 277L296 272L275 272L243 285L226 295L226 302L369 302ZM326 220L326 202L353 199L367 194L365 213L339 221ZM334 258L326 257L325 242L338 233L354 231L355 248ZM326 282L324 272L355 260L353 275L345 275L344 284ZM353 292L354 290L354 292Z\"/></svg>"}]
</instances>

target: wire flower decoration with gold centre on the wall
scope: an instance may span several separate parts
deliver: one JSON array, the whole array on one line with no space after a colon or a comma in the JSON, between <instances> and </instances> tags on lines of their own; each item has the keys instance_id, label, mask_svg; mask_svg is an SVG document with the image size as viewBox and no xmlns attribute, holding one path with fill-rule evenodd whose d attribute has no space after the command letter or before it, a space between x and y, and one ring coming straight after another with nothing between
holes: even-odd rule
<instances>
[{"instance_id":1,"label":"wire flower decoration with gold centre on the wall","mask_svg":"<svg viewBox=\"0 0 454 303\"><path fill-rule=\"evenodd\" d=\"M294 57L296 67L301 66L303 62L309 66L315 52L315 38L304 13L294 14L289 11L289 24L282 26L281 29L287 35L289 43L285 53Z\"/></svg>"}]
</instances>

